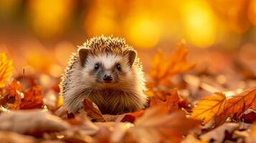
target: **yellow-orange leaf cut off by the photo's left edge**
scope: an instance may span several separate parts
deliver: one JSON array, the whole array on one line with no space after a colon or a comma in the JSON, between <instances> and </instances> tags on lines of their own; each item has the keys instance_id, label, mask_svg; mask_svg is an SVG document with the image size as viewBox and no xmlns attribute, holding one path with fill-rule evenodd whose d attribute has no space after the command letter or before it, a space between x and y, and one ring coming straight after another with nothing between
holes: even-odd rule
<instances>
[{"instance_id":1,"label":"yellow-orange leaf cut off by the photo's left edge","mask_svg":"<svg viewBox=\"0 0 256 143\"><path fill-rule=\"evenodd\" d=\"M8 60L5 53L0 54L0 88L4 87L11 77L13 70L12 61Z\"/></svg>"}]
</instances>

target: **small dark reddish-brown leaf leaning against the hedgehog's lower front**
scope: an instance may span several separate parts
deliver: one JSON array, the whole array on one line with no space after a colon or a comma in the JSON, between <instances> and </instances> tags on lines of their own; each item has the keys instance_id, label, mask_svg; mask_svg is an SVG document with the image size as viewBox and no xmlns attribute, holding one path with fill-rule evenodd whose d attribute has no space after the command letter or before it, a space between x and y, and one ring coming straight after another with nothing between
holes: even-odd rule
<instances>
[{"instance_id":1,"label":"small dark reddish-brown leaf leaning against the hedgehog's lower front","mask_svg":"<svg viewBox=\"0 0 256 143\"><path fill-rule=\"evenodd\" d=\"M105 121L103 114L101 114L101 112L100 112L100 109L97 107L97 105L95 103L90 101L90 99L85 98L82 103L83 103L84 110L87 113L88 117L91 117L92 119L95 119L98 122Z\"/></svg>"}]
</instances>

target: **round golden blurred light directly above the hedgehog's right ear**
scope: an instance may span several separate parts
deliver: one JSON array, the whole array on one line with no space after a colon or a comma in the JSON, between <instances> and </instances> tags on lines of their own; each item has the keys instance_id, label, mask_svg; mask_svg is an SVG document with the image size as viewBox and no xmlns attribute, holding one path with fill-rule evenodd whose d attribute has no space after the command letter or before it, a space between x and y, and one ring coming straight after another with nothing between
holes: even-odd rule
<instances>
[{"instance_id":1,"label":"round golden blurred light directly above the hedgehog's right ear","mask_svg":"<svg viewBox=\"0 0 256 143\"><path fill-rule=\"evenodd\" d=\"M127 19L125 32L133 46L144 49L156 46L161 36L157 19L143 14Z\"/></svg>"}]
</instances>

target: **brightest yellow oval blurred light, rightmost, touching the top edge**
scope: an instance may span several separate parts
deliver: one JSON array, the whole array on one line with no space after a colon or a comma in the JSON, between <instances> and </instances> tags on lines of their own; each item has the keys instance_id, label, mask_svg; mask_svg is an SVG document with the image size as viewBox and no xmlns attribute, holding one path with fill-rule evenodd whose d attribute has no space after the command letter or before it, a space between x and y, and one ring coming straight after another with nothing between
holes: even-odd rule
<instances>
[{"instance_id":1,"label":"brightest yellow oval blurred light, rightmost, touching the top edge","mask_svg":"<svg viewBox=\"0 0 256 143\"><path fill-rule=\"evenodd\" d=\"M216 24L212 9L202 0L186 1L181 9L187 39L199 47L214 44Z\"/></svg>"}]
</instances>

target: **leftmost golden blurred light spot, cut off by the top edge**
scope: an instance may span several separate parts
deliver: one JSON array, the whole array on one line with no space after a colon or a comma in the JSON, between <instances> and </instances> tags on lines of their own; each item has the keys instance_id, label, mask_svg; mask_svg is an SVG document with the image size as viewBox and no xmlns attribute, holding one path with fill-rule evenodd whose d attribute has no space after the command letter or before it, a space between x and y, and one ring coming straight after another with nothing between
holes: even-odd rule
<instances>
[{"instance_id":1,"label":"leftmost golden blurred light spot, cut off by the top edge","mask_svg":"<svg viewBox=\"0 0 256 143\"><path fill-rule=\"evenodd\" d=\"M49 38L64 31L71 10L72 1L70 0L31 0L28 13L34 32Z\"/></svg>"}]
</instances>

